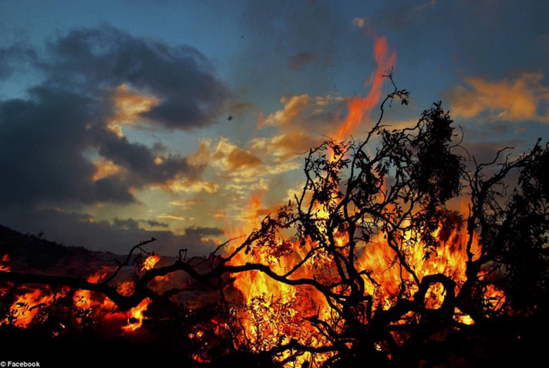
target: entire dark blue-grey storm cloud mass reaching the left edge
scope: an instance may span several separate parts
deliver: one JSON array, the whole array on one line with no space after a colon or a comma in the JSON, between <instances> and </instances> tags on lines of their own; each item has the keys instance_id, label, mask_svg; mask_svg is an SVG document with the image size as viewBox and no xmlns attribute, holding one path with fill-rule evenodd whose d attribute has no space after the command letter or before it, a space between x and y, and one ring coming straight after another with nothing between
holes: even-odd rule
<instances>
[{"instance_id":1,"label":"entire dark blue-grey storm cloud mass reaching the left edge","mask_svg":"<svg viewBox=\"0 0 549 368\"><path fill-rule=\"evenodd\" d=\"M129 189L199 175L185 157L129 142L108 129L112 91L121 84L152 94L152 124L188 130L209 125L226 88L206 58L188 46L170 47L111 27L78 30L49 43L45 56L22 47L0 53L0 78L14 60L43 73L27 99L0 101L0 206L135 201ZM2 56L3 55L3 56ZM94 181L90 152L123 170ZM9 217L4 212L2 218Z\"/></svg>"}]
</instances>

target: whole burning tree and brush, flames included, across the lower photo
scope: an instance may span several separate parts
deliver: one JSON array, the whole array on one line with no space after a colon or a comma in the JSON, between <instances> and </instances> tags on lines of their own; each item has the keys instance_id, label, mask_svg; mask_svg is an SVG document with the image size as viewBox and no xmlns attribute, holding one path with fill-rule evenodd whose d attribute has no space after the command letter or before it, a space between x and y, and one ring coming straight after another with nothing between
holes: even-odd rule
<instances>
[{"instance_id":1,"label":"whole burning tree and brush, flames included, across the lower photo","mask_svg":"<svg viewBox=\"0 0 549 368\"><path fill-rule=\"evenodd\" d=\"M198 366L547 359L549 147L477 163L440 103L386 129L393 100L408 92L363 141L312 148L288 203L259 219L253 197L208 258L164 261L151 239L79 278L14 272L4 255L0 330L122 336Z\"/></svg>"}]
</instances>

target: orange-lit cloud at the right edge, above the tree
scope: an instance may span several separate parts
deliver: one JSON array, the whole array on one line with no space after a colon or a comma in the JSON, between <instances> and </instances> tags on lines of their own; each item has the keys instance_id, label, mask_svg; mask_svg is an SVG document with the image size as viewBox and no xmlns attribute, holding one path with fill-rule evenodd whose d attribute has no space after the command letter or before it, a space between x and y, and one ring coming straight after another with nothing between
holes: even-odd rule
<instances>
[{"instance_id":1,"label":"orange-lit cloud at the right edge, above the tree","mask_svg":"<svg viewBox=\"0 0 549 368\"><path fill-rule=\"evenodd\" d=\"M489 81L465 78L467 86L448 92L451 111L456 118L487 118L489 121L549 122L549 87L543 74L524 73L513 79Z\"/></svg>"}]
</instances>

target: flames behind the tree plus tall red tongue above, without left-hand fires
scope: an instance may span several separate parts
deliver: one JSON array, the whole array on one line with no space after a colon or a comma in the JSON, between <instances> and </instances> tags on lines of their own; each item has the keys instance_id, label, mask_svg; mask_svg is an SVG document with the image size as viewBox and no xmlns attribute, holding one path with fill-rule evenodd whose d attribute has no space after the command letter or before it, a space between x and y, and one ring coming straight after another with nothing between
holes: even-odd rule
<instances>
[{"instance_id":1,"label":"flames behind the tree plus tall red tongue above, without left-hand fires","mask_svg":"<svg viewBox=\"0 0 549 368\"><path fill-rule=\"evenodd\" d=\"M379 103L384 79L382 74L391 69L396 62L396 52L390 51L385 37L375 38L374 56L377 69L368 80L372 88L365 98L349 99L349 113L341 124L335 135L335 141L347 139L358 125L368 116L374 106ZM330 152L327 160L330 163L342 158L337 153ZM387 192L387 183L383 183ZM336 207L338 198L336 193L331 193L329 207ZM463 207L463 206L462 206ZM246 223L240 228L233 228L228 235L234 237L242 233L251 233L260 227L258 214L261 209L261 196L252 195L247 206L242 211L241 219ZM315 218L319 221L319 228L322 228L322 221L329 220L328 208L314 208ZM396 305L399 298L413 300L418 292L418 283L425 277L432 275L443 275L452 280L455 290L446 290L445 286L433 283L428 287L424 296L424 307L427 309L439 309L443 305L449 292L457 295L467 280L465 274L466 263L469 260L467 244L470 243L472 260L477 259L481 254L479 239L476 234L469 234L466 226L462 226L464 216L462 214L448 213L449 221L441 219L438 229L432 232L437 246L426 256L426 244L421 240L418 233L427 231L419 229L419 232L412 233L411 230L403 235L399 243L399 252L404 259L399 259L397 251L388 243L380 232L374 238L356 249L355 267L361 275L364 284L364 296L372 298L372 305L375 310L388 310ZM326 229L326 228L325 228ZM348 234L345 231L332 234L334 242L341 247L342 252L345 244L349 243ZM472 237L472 239L471 239ZM271 271L277 275L284 275L293 270L289 279L315 280L323 285L337 283L338 273L336 261L327 251L317 251L313 257L302 262L307 254L319 247L317 243L308 239L305 243L292 240L280 234L276 239L277 248L283 254L273 255L266 247L258 246L246 252L240 252L230 262L231 265L244 265L247 263L258 263L269 265ZM231 254L238 244L234 244L229 250ZM344 254L346 256L348 254ZM410 271L403 267L406 264ZM237 336L236 344L253 352L268 351L279 347L290 341L310 347L326 347L332 341L326 338L319 326L329 326L336 333L343 332L344 326L337 318L333 305L330 305L326 297L313 287L290 286L278 282L262 272L251 271L239 273L234 276L234 286L241 292L243 307L235 313L239 319L243 331ZM343 285L333 288L333 291L340 295L348 295L350 291ZM486 288L484 292L485 308L496 311L503 305L504 293L493 285ZM419 318L415 313L409 312L402 316L396 324L403 324L407 320ZM456 308L454 320L462 324L474 324L472 316ZM321 323L315 323L321 321ZM362 323L368 324L366 318ZM396 343L402 343L396 336ZM346 344L352 345L352 342ZM376 345L378 351L383 346ZM290 355L289 351L278 356L283 361ZM303 364L304 362L319 364L329 359L331 353L305 353L296 357L297 360L291 364ZM287 366L290 366L288 363Z\"/></svg>"}]
</instances>

